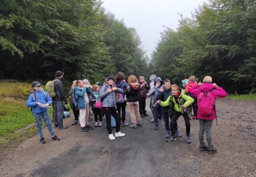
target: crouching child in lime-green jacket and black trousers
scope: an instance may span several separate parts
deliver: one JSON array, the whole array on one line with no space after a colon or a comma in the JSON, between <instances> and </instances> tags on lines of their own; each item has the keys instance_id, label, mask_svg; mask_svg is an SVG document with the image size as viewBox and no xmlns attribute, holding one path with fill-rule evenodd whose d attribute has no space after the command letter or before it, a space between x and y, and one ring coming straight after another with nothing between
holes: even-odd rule
<instances>
[{"instance_id":1,"label":"crouching child in lime-green jacket and black trousers","mask_svg":"<svg viewBox=\"0 0 256 177\"><path fill-rule=\"evenodd\" d=\"M187 96L184 90L180 90L179 86L176 84L171 86L171 94L172 96L169 96L165 102L158 100L160 106L168 106L170 104L169 102L174 104L173 111L171 113L171 136L170 138L167 138L166 141L171 142L177 140L175 135L175 128L177 126L177 120L182 115L186 125L186 142L190 144L190 119L188 118L188 113L184 110L186 110L186 108L188 108L188 106L194 102L194 99L190 96Z\"/></svg>"}]
</instances>

